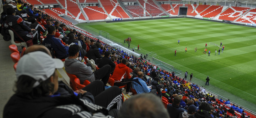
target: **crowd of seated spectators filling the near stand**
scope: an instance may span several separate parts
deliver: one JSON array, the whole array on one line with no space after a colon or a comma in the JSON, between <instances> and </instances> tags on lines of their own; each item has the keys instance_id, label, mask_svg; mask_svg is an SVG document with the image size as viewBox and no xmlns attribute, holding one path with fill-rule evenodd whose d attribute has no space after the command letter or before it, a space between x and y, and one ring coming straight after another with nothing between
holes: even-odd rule
<instances>
[{"instance_id":1,"label":"crowd of seated spectators filling the near stand","mask_svg":"<svg viewBox=\"0 0 256 118\"><path fill-rule=\"evenodd\" d=\"M30 18L19 16L24 10L30 13ZM20 59L16 71L17 90L4 108L4 118L118 115L121 118L250 117L242 107L231 105L229 100L218 100L214 95L206 93L203 86L190 83L186 79L188 73L185 74L186 78L181 78L175 72L161 70L143 59L142 54L137 57L78 33L75 29L72 30L56 19L35 10L33 5L28 7L20 0L6 0L1 15L1 34L5 39L8 39L6 30L10 25L17 29L16 32L25 41L32 38L33 44L42 44L29 47L28 53ZM41 41L41 35L44 41ZM15 38L20 41L16 34ZM99 69L92 71L92 64L84 64L86 58L93 60ZM65 64L59 59L65 60ZM85 80L91 83L74 92L64 83L58 82L56 69L63 66L67 73L79 78L80 84ZM191 75L190 79L193 77L193 74ZM109 77L115 81L112 87L107 85ZM121 91L125 89L127 95L138 95L125 102L121 108ZM164 109L163 103L167 104L167 110Z\"/></svg>"}]
</instances>

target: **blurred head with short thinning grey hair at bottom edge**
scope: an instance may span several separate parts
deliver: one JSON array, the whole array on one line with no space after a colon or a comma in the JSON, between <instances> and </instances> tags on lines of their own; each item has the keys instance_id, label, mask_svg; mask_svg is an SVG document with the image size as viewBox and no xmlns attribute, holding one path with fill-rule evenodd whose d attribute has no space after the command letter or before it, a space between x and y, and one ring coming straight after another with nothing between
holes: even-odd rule
<instances>
[{"instance_id":1,"label":"blurred head with short thinning grey hair at bottom edge","mask_svg":"<svg viewBox=\"0 0 256 118\"><path fill-rule=\"evenodd\" d=\"M122 104L118 118L170 118L163 103L154 94L132 96Z\"/></svg>"}]
</instances>

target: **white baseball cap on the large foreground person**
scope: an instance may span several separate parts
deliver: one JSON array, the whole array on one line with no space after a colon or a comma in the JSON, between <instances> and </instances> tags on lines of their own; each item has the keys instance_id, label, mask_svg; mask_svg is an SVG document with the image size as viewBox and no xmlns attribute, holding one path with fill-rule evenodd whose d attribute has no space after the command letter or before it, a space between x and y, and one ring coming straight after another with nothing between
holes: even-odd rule
<instances>
[{"instance_id":1,"label":"white baseball cap on the large foreground person","mask_svg":"<svg viewBox=\"0 0 256 118\"><path fill-rule=\"evenodd\" d=\"M17 79L21 75L32 77L36 80L33 87L40 85L40 82L47 80L55 72L55 69L63 68L64 64L60 59L54 59L42 51L28 53L19 60L16 69Z\"/></svg>"}]
</instances>

